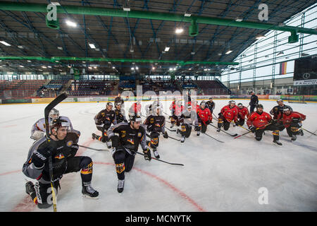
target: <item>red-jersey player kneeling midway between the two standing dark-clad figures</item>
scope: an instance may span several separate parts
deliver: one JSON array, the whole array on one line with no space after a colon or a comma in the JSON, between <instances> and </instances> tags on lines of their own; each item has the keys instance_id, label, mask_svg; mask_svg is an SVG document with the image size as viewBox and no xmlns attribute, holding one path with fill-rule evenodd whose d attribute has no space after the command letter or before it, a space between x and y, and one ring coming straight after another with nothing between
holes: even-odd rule
<instances>
[{"instance_id":1,"label":"red-jersey player kneeling midway between the two standing dark-clad figures","mask_svg":"<svg viewBox=\"0 0 317 226\"><path fill-rule=\"evenodd\" d=\"M229 105L225 105L218 114L218 129L219 132L221 127L227 131L230 127L230 122L234 121L235 124L238 124L237 121L237 107L235 106L235 101L230 100Z\"/></svg>"}]
</instances>

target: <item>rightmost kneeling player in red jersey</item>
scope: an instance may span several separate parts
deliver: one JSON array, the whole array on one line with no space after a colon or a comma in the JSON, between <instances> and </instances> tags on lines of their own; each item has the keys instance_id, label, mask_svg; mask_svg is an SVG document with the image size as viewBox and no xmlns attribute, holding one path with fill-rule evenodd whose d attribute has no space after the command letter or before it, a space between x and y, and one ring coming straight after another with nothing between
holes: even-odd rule
<instances>
[{"instance_id":1,"label":"rightmost kneeling player in red jersey","mask_svg":"<svg viewBox=\"0 0 317 226\"><path fill-rule=\"evenodd\" d=\"M282 122L292 141L296 141L297 135L304 135L303 130L300 128L302 127L302 121L306 119L306 115L293 112L292 109L287 106L284 107L283 111L284 113L279 115L278 121ZM282 117L280 118L280 116Z\"/></svg>"}]
</instances>

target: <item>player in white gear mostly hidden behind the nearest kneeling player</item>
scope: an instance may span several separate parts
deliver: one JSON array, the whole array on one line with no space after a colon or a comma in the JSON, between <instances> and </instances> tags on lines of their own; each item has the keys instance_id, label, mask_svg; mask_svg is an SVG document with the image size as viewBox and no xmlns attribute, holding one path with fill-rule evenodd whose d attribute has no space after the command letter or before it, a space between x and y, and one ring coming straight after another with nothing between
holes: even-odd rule
<instances>
[{"instance_id":1,"label":"player in white gear mostly hidden behind the nearest kneeling player","mask_svg":"<svg viewBox=\"0 0 317 226\"><path fill-rule=\"evenodd\" d=\"M59 111L55 108L51 109L51 112L49 112L49 123L53 119L57 119L58 117L60 117ZM70 131L75 132L75 133L77 133L78 136L80 136L80 131L73 129L73 125L68 117L61 116L61 119L68 121L68 123L70 124ZM42 138L43 136L45 136L45 131L46 131L45 130L45 119L44 118L39 119L32 126L30 138L37 141L39 138Z\"/></svg>"}]
</instances>

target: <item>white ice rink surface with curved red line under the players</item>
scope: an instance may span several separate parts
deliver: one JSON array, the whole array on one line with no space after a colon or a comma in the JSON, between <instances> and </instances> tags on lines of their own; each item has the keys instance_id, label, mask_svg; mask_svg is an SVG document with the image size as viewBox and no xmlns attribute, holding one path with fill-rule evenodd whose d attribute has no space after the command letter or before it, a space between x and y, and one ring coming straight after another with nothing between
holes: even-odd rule
<instances>
[{"instance_id":1,"label":"white ice rink surface with curved red line under the players","mask_svg":"<svg viewBox=\"0 0 317 226\"><path fill-rule=\"evenodd\" d=\"M199 100L200 102L201 100ZM215 100L218 115L228 100ZM236 100L245 106L249 100ZM150 102L142 102L144 105ZM260 100L269 112L275 101ZM94 115L104 109L105 102L61 103L56 107L61 116L71 119L74 129L81 131L79 144L107 149L104 143L92 140L92 133L100 134ZM127 106L132 102L126 102ZM287 102L285 102L287 104ZM40 210L25 194L25 175L21 169L32 145L30 129L37 119L44 117L47 104L0 105L0 211ZM288 104L287 104L288 105ZM169 102L163 102L170 112ZM317 129L317 104L290 104L294 111L306 114L303 127ZM128 111L126 111L128 112ZM213 120L216 126L216 120ZM166 126L169 128L170 124ZM232 127L229 133L246 132ZM209 126L206 133L192 135L185 143L160 137L161 160L182 163L168 165L156 160L145 161L137 155L132 170L125 174L125 189L118 194L113 158L108 151L80 148L77 154L92 157L94 171L92 186L99 191L99 199L83 198L80 172L66 174L58 191L58 211L317 211L317 141L304 131L297 141L290 141L286 131L280 132L282 146L272 143L271 131L262 141L252 133L233 138ZM175 132L170 136L180 138ZM139 148L142 152L142 148ZM152 153L152 156L153 153ZM268 191L268 204L260 204L261 188ZM261 199L261 198L260 198Z\"/></svg>"}]
</instances>

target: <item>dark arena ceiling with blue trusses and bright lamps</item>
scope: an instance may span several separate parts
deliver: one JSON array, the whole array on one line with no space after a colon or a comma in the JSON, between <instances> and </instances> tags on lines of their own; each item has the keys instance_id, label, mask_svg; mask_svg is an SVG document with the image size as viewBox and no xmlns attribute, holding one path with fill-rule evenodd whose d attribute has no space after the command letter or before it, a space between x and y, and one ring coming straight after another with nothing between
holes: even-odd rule
<instances>
[{"instance_id":1,"label":"dark arena ceiling with blue trusses and bright lamps","mask_svg":"<svg viewBox=\"0 0 317 226\"><path fill-rule=\"evenodd\" d=\"M6 10L4 5L8 2L14 3L16 7L30 8L30 11ZM51 2L60 4L58 8L63 8L63 13L57 14L58 30L48 28L47 13L37 11L35 7ZM219 21L232 20L232 23L240 20L240 23L262 23L278 27L283 21L314 3L315 1L309 0L1 1L0 40L10 46L0 44L0 56L23 57L23 60L2 59L0 70L37 73L42 70L60 73L74 67L90 73L123 75L131 72L163 74L178 66L175 69L176 74L204 69L210 69L209 73L219 73L220 69L227 66L221 65L221 62L232 62L256 41L258 35L264 35L268 29L199 23L197 20L198 35L190 36L189 30L192 31L193 28L190 28L192 24L185 20L188 14L192 18L217 18ZM268 20L259 20L260 4L268 6ZM69 13L66 8L70 6L111 8L116 9L116 12L123 11L127 16ZM127 11L128 8L130 11ZM129 15L132 15L133 11L141 11L142 15L150 17L155 13L170 13L168 15L171 17L166 20L132 18ZM185 13L185 19L170 20L172 16L185 16ZM69 21L75 23L75 27ZM182 28L183 32L175 33L176 28ZM94 48L91 44L94 44ZM168 51L166 47L169 47ZM228 50L232 52L226 54ZM52 57L61 58L56 60ZM218 64L208 64L211 61ZM189 63L183 64L184 62ZM135 70L136 68L138 70Z\"/></svg>"}]
</instances>

